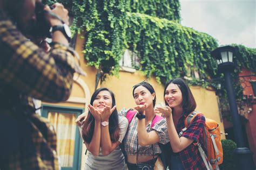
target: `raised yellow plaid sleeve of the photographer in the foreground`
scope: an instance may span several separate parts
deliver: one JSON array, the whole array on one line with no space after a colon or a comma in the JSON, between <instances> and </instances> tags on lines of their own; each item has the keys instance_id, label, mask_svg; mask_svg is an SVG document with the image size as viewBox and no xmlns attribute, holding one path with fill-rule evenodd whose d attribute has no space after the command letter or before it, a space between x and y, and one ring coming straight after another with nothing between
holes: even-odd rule
<instances>
[{"instance_id":1,"label":"raised yellow plaid sleeve of the photographer in the foreground","mask_svg":"<svg viewBox=\"0 0 256 170\"><path fill-rule=\"evenodd\" d=\"M0 51L0 81L39 100L67 100L73 73L83 74L72 49L56 43L45 53L9 19L0 18Z\"/></svg>"}]
</instances>

